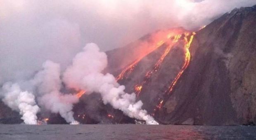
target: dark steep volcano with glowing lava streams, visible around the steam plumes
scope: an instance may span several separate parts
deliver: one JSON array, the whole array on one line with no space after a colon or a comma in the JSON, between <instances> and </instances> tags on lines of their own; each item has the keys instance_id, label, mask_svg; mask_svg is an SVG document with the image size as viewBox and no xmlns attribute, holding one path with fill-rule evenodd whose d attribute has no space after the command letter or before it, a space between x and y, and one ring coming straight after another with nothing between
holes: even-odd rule
<instances>
[{"instance_id":1,"label":"dark steep volcano with glowing lava streams, visible around the steam plumes","mask_svg":"<svg viewBox=\"0 0 256 140\"><path fill-rule=\"evenodd\" d=\"M199 30L158 30L106 54L104 72L136 93L160 124L256 123L256 5L234 9ZM73 111L82 124L138 122L104 105L97 93L80 96ZM22 122L3 103L0 110L1 123ZM50 114L48 124L63 123Z\"/></svg>"}]
</instances>

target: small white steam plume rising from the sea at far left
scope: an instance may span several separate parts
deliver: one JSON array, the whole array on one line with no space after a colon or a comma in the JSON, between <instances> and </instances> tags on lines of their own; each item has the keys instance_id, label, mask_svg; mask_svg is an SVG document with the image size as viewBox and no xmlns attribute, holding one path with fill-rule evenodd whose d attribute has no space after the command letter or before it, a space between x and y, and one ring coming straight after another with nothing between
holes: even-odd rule
<instances>
[{"instance_id":1,"label":"small white steam plume rising from the sea at far left","mask_svg":"<svg viewBox=\"0 0 256 140\"><path fill-rule=\"evenodd\" d=\"M32 93L21 91L18 84L9 82L4 84L2 90L2 101L12 110L18 111L25 124L37 124L36 114L39 112L39 107Z\"/></svg>"}]
</instances>

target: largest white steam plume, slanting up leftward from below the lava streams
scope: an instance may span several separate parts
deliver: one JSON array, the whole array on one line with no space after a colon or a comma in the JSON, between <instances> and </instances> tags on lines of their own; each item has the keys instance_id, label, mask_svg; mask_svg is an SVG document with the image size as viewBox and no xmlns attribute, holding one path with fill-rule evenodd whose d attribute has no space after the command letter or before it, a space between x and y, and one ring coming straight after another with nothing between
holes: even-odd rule
<instances>
[{"instance_id":1,"label":"largest white steam plume, slanting up leftward from below the lava streams","mask_svg":"<svg viewBox=\"0 0 256 140\"><path fill-rule=\"evenodd\" d=\"M143 103L136 102L135 93L125 93L125 86L119 85L113 75L101 73L106 66L107 55L100 52L96 44L87 44L64 72L64 82L69 88L100 93L104 104L109 103L131 118L145 120L146 124L158 124L146 110L142 110Z\"/></svg>"}]
</instances>

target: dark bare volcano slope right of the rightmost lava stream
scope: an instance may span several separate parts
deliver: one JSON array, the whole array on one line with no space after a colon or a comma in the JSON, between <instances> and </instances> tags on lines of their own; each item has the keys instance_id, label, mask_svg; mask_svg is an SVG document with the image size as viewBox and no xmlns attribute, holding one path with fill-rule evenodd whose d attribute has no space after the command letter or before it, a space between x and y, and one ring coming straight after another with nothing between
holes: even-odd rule
<instances>
[{"instance_id":1,"label":"dark bare volcano slope right of the rightmost lava stream","mask_svg":"<svg viewBox=\"0 0 256 140\"><path fill-rule=\"evenodd\" d=\"M234 9L195 35L192 61L159 112L166 124L256 123L256 6Z\"/></svg>"}]
</instances>

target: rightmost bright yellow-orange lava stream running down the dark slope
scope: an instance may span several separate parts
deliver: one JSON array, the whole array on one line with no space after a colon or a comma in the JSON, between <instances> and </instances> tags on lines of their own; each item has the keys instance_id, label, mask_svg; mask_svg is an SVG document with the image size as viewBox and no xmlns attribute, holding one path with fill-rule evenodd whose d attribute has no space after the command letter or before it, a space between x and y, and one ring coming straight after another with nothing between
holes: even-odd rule
<instances>
[{"instance_id":1,"label":"rightmost bright yellow-orange lava stream running down the dark slope","mask_svg":"<svg viewBox=\"0 0 256 140\"><path fill-rule=\"evenodd\" d=\"M183 72L187 69L188 65L190 64L190 59L191 59L191 54L190 54L190 44L194 38L194 35L196 33L193 32L192 35L190 36L190 41L188 41L187 37L190 35L189 33L185 33L185 63L183 65L183 67L181 68L180 72L178 73L178 75L176 75L175 79L173 80L173 82L171 83L171 85L168 87L168 89L165 91L165 94L170 94L173 91L174 86L176 85L176 83L178 82L178 79L180 79L180 76L183 74ZM156 106L158 109L160 109L163 105L164 100L161 100L160 103ZM156 111L156 109L155 109Z\"/></svg>"}]
</instances>

